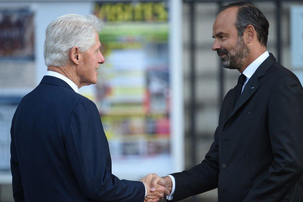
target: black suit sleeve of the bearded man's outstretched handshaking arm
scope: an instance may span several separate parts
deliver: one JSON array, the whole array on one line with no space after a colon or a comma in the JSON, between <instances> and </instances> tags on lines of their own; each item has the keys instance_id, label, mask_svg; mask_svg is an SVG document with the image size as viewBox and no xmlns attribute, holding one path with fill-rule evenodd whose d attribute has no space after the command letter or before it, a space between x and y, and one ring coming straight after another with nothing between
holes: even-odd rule
<instances>
[{"instance_id":1,"label":"black suit sleeve of the bearded man's outstretched handshaking arm","mask_svg":"<svg viewBox=\"0 0 303 202\"><path fill-rule=\"evenodd\" d=\"M218 127L215 131L214 142L205 159L190 170L171 174L175 178L173 200L178 201L192 195L217 188L219 177Z\"/></svg>"}]
</instances>

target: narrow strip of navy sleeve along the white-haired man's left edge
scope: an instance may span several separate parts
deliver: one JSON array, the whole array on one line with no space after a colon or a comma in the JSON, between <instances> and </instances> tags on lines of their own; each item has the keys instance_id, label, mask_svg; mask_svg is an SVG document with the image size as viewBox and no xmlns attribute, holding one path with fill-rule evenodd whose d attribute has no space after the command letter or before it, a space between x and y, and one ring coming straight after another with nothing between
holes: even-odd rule
<instances>
[{"instance_id":1,"label":"narrow strip of navy sleeve along the white-haired man's left edge","mask_svg":"<svg viewBox=\"0 0 303 202\"><path fill-rule=\"evenodd\" d=\"M16 112L15 112L16 113ZM15 148L15 138L14 138L14 119L11 124L11 176L12 176L12 188L13 188L13 197L16 202L25 201L20 168Z\"/></svg>"}]
</instances>

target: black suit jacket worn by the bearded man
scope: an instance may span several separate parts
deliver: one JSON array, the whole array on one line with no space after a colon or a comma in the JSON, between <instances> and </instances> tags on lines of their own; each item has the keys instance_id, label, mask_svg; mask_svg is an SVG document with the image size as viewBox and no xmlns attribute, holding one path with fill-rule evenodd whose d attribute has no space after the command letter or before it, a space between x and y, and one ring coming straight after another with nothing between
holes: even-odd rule
<instances>
[{"instance_id":1,"label":"black suit jacket worn by the bearded man","mask_svg":"<svg viewBox=\"0 0 303 202\"><path fill-rule=\"evenodd\" d=\"M219 202L300 201L300 81L270 54L248 80L235 107L234 96L235 88L224 98L215 140L202 163L172 174L173 201L217 187Z\"/></svg>"}]
</instances>

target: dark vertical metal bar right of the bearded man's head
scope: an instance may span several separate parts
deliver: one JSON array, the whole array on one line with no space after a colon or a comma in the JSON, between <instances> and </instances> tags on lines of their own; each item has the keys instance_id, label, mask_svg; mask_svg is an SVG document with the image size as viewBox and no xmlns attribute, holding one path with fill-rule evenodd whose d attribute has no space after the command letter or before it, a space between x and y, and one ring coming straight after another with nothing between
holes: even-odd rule
<instances>
[{"instance_id":1,"label":"dark vertical metal bar right of the bearded man's head","mask_svg":"<svg viewBox=\"0 0 303 202\"><path fill-rule=\"evenodd\" d=\"M276 48L277 48L277 61L282 64L282 40L281 40L281 1L276 1L276 19L277 19L277 26L276 26L276 33L277 33L277 40L276 40Z\"/></svg>"}]
</instances>

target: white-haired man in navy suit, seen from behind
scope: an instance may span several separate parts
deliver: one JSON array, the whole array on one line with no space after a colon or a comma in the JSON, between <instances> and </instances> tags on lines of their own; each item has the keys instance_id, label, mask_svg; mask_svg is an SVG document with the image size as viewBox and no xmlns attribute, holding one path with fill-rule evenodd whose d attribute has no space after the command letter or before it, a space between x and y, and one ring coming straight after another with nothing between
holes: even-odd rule
<instances>
[{"instance_id":1,"label":"white-haired man in navy suit, seen from behind","mask_svg":"<svg viewBox=\"0 0 303 202\"><path fill-rule=\"evenodd\" d=\"M156 174L141 181L120 180L111 173L111 156L96 105L78 94L97 82L105 62L96 16L68 14L46 29L47 75L21 100L11 125L13 195L18 201L156 201ZM143 182L143 183L142 183ZM159 191L158 191L159 190ZM168 194L166 192L166 194Z\"/></svg>"}]
</instances>

